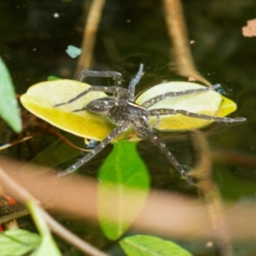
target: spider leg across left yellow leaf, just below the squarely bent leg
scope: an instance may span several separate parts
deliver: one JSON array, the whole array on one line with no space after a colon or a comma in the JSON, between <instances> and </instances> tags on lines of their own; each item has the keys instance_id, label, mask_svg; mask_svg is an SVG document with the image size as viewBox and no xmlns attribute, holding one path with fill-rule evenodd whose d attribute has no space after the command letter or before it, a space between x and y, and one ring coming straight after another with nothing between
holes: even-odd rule
<instances>
[{"instance_id":1,"label":"spider leg across left yellow leaf, just below the squarely bent leg","mask_svg":"<svg viewBox=\"0 0 256 256\"><path fill-rule=\"evenodd\" d=\"M108 93L115 93L119 92L122 97L127 97L129 95L129 91L123 87L107 87L107 86L90 86L87 90L84 90L83 92L79 93L79 95L73 97L67 102L62 102L59 104L55 104L54 107L60 107L62 105L70 104L72 102L77 101L80 97L86 95L90 91L102 91L102 92L108 92Z\"/></svg>"}]
</instances>

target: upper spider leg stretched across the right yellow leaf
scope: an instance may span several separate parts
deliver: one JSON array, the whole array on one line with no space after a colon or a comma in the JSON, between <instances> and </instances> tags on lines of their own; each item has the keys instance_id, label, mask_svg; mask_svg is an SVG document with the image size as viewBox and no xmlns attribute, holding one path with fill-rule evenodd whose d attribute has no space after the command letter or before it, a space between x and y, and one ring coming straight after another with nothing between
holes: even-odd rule
<instances>
[{"instance_id":1,"label":"upper spider leg stretched across the right yellow leaf","mask_svg":"<svg viewBox=\"0 0 256 256\"><path fill-rule=\"evenodd\" d=\"M205 88L199 88L199 89L191 89L191 90L183 90L183 91L170 91L165 94L155 96L146 102L143 102L142 107L149 108L149 107L153 106L154 104L156 104L157 102L165 100L167 97L183 96L183 95L189 95L189 94L198 93L198 92L204 92L204 91L208 91L208 90L215 90L218 87L220 87L220 84L214 84L212 86L205 87Z\"/></svg>"}]
</instances>

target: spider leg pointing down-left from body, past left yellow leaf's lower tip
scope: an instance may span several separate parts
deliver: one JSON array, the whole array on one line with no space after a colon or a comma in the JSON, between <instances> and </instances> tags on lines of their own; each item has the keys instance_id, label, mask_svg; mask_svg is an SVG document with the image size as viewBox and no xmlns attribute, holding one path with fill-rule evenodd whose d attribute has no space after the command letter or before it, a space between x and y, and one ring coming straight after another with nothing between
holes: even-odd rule
<instances>
[{"instance_id":1,"label":"spider leg pointing down-left from body, past left yellow leaf's lower tip","mask_svg":"<svg viewBox=\"0 0 256 256\"><path fill-rule=\"evenodd\" d=\"M109 133L108 137L106 137L102 141L102 143L97 145L96 148L92 149L90 151L90 153L86 154L81 160L79 160L78 162L73 164L73 166L70 166L69 168L67 168L67 170L65 170L63 172L59 172L58 176L59 177L65 176L69 173L74 172L80 166L83 166L86 162L91 160L96 154L101 152L102 149L105 148L108 145L108 143L110 143L113 140L113 138L118 137L120 133L124 132L128 128L128 126L129 126L129 123L124 123L124 124L116 127L115 129L113 129L113 131L111 133Z\"/></svg>"}]
</instances>

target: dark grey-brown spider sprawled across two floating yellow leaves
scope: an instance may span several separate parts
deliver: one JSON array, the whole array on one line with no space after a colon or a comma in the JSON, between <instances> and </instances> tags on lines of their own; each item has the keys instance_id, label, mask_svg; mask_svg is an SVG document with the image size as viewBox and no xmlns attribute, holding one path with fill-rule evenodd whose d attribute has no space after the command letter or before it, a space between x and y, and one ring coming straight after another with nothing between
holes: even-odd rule
<instances>
[{"instance_id":1,"label":"dark grey-brown spider sprawled across two floating yellow leaves","mask_svg":"<svg viewBox=\"0 0 256 256\"><path fill-rule=\"evenodd\" d=\"M80 97L86 95L87 93L90 93L90 91L103 91L106 93L112 93L113 96L106 96L99 99L96 99L86 106L84 108L75 109L73 112L79 112L79 111L89 111L90 113L97 113L97 114L104 114L108 116L108 119L110 119L113 124L117 125L116 128L113 129L112 132L108 134L108 136L102 141L102 143L98 144L96 148L92 149L90 153L86 154L81 160L73 164L73 166L70 166L67 168L67 170L59 172L58 176L64 176L68 173L73 172L75 169L79 168L80 166L84 165L87 161L92 159L96 154L98 154L100 151L102 151L103 148L105 148L108 143L110 143L113 138L118 137L119 134L125 132L129 127L131 127L134 131L137 132L138 137L142 137L143 139L148 139L151 143L156 145L158 148L160 148L160 151L166 155L166 160L174 166L174 168L177 170L177 172L180 173L182 177L186 179L186 181L189 184L193 184L193 181L191 177L189 177L189 174L183 170L183 167L178 163L175 156L169 151L169 149L166 147L165 143L160 142L160 139L154 134L154 127L156 125L159 125L160 123L160 116L161 115L167 115L167 114L177 114L181 113L183 115L197 118L197 119L209 119L209 120L215 120L218 122L224 122L224 123L233 123L233 122L242 122L245 120L245 118L221 118L216 116L210 116L205 114L199 114L199 113L190 113L185 110L179 110L179 109L170 109L170 108L160 108L160 109L152 109L148 110L149 107L153 106L157 102L160 102L166 97L173 97L173 96L183 96L188 95L192 93L207 91L207 90L215 90L220 85L215 84L211 87L205 87L200 89L192 89L192 90L183 90L183 91L177 91L177 92L167 92L165 94L162 94L160 96L154 96L153 98L149 99L146 102L143 102L143 104L137 105L135 101L135 88L139 80L141 79L143 75L143 64L140 64L139 70L136 74L136 76L131 79L131 82L129 84L128 89L125 89L123 87L119 86L91 86L89 89L84 90L82 93L80 93L78 96L73 97L67 102L62 102L59 104L56 104L54 107L59 107L61 105L69 104L71 102L74 102L78 100ZM95 72L95 71L83 71L79 75L79 80L83 80L85 76L98 76L98 77L113 77L115 79L115 85L121 84L121 74L117 72ZM154 125L149 124L149 117L155 116L156 122Z\"/></svg>"}]
</instances>

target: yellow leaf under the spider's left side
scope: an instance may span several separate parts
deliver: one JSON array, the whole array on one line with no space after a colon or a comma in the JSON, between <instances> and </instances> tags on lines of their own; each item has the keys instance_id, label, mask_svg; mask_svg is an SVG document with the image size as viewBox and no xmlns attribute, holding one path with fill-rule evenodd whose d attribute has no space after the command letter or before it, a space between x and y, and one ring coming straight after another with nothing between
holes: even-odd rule
<instances>
[{"instance_id":1,"label":"yellow leaf under the spider's left side","mask_svg":"<svg viewBox=\"0 0 256 256\"><path fill-rule=\"evenodd\" d=\"M89 102L107 96L102 92L90 92L79 100L55 108L55 104L67 102L80 92L88 89L89 84L75 80L54 80L35 84L26 94L20 97L20 102L30 112L79 137L102 141L113 130L114 125L107 118L87 111L73 113L74 109L83 108Z\"/></svg>"}]
</instances>

